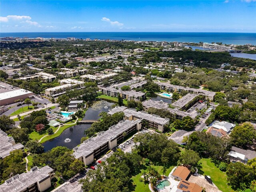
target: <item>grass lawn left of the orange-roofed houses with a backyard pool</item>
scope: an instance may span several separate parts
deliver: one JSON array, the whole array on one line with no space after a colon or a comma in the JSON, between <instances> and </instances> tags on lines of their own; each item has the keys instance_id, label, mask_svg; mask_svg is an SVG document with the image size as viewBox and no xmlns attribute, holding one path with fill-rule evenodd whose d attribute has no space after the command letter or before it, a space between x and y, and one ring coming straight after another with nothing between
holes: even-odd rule
<instances>
[{"instance_id":1,"label":"grass lawn left of the orange-roofed houses with a backyard pool","mask_svg":"<svg viewBox=\"0 0 256 192\"><path fill-rule=\"evenodd\" d=\"M163 172L162 172L163 166L152 165L152 167L155 168L160 174L163 174ZM170 166L167 169L165 175L168 176L173 168L174 168L174 166ZM150 192L149 187L148 187L148 183L144 184L144 182L139 181L140 177L142 176L143 171L144 170L142 169L139 174L137 174L136 176L132 176L132 180L133 180L134 184L136 185L134 192L142 192L142 191L143 192Z\"/></svg>"}]
</instances>

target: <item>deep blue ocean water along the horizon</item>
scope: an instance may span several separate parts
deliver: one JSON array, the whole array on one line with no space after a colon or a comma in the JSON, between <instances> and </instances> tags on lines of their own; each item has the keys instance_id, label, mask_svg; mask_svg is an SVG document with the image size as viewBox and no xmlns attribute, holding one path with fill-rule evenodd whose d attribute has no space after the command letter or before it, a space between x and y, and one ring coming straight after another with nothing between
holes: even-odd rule
<instances>
[{"instance_id":1,"label":"deep blue ocean water along the horizon","mask_svg":"<svg viewBox=\"0 0 256 192\"><path fill-rule=\"evenodd\" d=\"M256 33L216 32L19 32L0 33L0 37L28 38L90 38L100 40L136 40L168 42L222 42L224 44L256 45Z\"/></svg>"}]
</instances>

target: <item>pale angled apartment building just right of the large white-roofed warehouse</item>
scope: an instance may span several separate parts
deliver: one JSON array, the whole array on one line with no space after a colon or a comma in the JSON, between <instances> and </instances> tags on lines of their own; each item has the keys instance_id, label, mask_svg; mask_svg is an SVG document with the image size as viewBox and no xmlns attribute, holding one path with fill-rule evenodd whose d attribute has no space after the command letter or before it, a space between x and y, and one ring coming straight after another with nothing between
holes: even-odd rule
<instances>
[{"instance_id":1,"label":"pale angled apartment building just right of the large white-roofed warehouse","mask_svg":"<svg viewBox=\"0 0 256 192\"><path fill-rule=\"evenodd\" d=\"M56 97L66 93L67 90L74 88L83 88L84 82L74 79L63 79L60 80L60 86L48 88L45 90L45 94L51 97Z\"/></svg>"}]
</instances>

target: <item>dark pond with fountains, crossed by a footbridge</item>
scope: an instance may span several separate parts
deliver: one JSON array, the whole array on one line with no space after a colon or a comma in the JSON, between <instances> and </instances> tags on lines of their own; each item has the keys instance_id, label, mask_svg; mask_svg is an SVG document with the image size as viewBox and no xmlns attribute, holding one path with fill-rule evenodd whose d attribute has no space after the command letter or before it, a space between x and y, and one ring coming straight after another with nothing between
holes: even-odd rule
<instances>
[{"instance_id":1,"label":"dark pond with fountains, crossed by a footbridge","mask_svg":"<svg viewBox=\"0 0 256 192\"><path fill-rule=\"evenodd\" d=\"M112 102L107 102L104 100L97 101L92 106L88 108L83 120L97 120L100 118L98 115L101 112L108 112L108 109L113 105ZM106 106L108 108L106 108ZM78 144L80 144L80 140L84 137L84 130L90 128L91 124L80 124L75 125L70 128L67 128L60 134L60 136L44 142L42 145L44 146L44 151L49 151L57 146L64 146L67 148L74 148Z\"/></svg>"}]
</instances>

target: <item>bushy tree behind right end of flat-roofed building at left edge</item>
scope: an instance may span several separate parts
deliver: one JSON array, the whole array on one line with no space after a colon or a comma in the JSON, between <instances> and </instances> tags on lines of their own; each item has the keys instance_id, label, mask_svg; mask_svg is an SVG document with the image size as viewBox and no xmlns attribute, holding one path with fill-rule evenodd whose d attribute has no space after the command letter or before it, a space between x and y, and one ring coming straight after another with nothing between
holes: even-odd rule
<instances>
[{"instance_id":1,"label":"bushy tree behind right end of flat-roofed building at left edge","mask_svg":"<svg viewBox=\"0 0 256 192\"><path fill-rule=\"evenodd\" d=\"M8 131L14 140L21 144L26 144L29 140L28 136L28 128L12 128L10 131Z\"/></svg>"}]
</instances>

